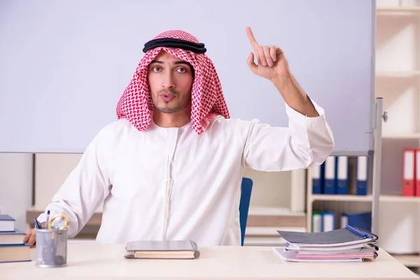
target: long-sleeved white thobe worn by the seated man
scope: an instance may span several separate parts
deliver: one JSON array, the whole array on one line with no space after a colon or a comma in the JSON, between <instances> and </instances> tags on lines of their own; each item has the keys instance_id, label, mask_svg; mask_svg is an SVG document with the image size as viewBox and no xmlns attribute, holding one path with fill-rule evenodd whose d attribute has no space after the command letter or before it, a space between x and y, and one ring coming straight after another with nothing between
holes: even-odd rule
<instances>
[{"instance_id":1,"label":"long-sleeved white thobe worn by the seated man","mask_svg":"<svg viewBox=\"0 0 420 280\"><path fill-rule=\"evenodd\" d=\"M190 123L139 132L128 120L102 129L52 198L74 237L103 204L97 241L194 240L240 245L246 168L282 172L321 165L334 147L323 109L308 118L286 104L288 127L217 117L199 136ZM38 220L45 221L45 214Z\"/></svg>"}]
</instances>

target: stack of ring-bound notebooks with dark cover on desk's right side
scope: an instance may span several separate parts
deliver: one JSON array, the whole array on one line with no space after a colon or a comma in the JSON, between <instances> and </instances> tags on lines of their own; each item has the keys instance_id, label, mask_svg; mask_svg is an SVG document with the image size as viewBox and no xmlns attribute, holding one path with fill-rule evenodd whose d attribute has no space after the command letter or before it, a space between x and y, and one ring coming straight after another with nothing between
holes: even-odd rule
<instances>
[{"instance_id":1,"label":"stack of ring-bound notebooks with dark cover on desk's right side","mask_svg":"<svg viewBox=\"0 0 420 280\"><path fill-rule=\"evenodd\" d=\"M287 261L363 262L378 255L378 236L351 225L326 232L277 232L286 240L286 246L274 251Z\"/></svg>"}]
</instances>

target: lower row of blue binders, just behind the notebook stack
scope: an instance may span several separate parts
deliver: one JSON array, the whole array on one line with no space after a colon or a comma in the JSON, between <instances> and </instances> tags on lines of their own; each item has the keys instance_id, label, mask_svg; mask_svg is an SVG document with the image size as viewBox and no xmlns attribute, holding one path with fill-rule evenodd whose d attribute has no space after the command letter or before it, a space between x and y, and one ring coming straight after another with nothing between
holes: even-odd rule
<instances>
[{"instance_id":1,"label":"lower row of blue binders, just behind the notebook stack","mask_svg":"<svg viewBox=\"0 0 420 280\"><path fill-rule=\"evenodd\" d=\"M337 218L339 218L339 221L336 219L335 212L312 212L311 232L328 232L344 228L346 225L367 231L372 228L372 212L342 213Z\"/></svg>"}]
</instances>

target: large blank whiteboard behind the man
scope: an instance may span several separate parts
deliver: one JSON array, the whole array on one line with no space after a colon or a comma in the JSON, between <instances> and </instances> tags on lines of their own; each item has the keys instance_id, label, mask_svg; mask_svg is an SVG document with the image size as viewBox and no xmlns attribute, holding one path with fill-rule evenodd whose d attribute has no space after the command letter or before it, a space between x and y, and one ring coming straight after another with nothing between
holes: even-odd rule
<instances>
[{"instance_id":1,"label":"large blank whiteboard behind the man","mask_svg":"<svg viewBox=\"0 0 420 280\"><path fill-rule=\"evenodd\" d=\"M323 107L334 153L372 150L374 6L368 0L13 1L0 3L0 152L83 153L144 55L169 29L196 36L232 118L287 126L281 94L246 64L245 28L279 45Z\"/></svg>"}]
</instances>

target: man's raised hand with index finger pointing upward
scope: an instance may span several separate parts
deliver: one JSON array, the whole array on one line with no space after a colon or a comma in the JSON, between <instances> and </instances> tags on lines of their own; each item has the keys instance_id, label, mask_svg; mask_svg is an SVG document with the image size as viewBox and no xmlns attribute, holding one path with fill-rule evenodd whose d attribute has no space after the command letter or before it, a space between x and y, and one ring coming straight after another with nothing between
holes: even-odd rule
<instances>
[{"instance_id":1,"label":"man's raised hand with index finger pointing upward","mask_svg":"<svg viewBox=\"0 0 420 280\"><path fill-rule=\"evenodd\" d=\"M246 34L258 63L255 64L254 53L251 52L246 61L251 71L262 78L272 81L290 78L290 69L283 50L275 45L260 45L255 40L251 27L246 27Z\"/></svg>"}]
</instances>

